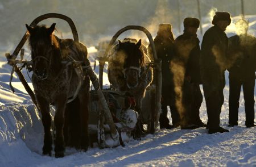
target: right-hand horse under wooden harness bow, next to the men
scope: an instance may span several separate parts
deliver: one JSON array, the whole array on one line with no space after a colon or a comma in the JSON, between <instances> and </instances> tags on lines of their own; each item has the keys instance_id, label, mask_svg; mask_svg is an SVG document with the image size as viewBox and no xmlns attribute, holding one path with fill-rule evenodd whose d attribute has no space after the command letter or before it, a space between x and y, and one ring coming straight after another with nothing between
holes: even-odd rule
<instances>
[{"instance_id":1,"label":"right-hand horse under wooden harness bow, next to the men","mask_svg":"<svg viewBox=\"0 0 256 167\"><path fill-rule=\"evenodd\" d=\"M151 62L147 56L147 48L141 43L141 39L118 40L110 51L108 78L114 90L127 91L135 98L135 111L141 113L142 99L146 88L152 82L152 68L147 65ZM139 120L139 119L138 119ZM139 122L139 121L138 121ZM142 124L137 124L136 134L141 137Z\"/></svg>"}]
</instances>

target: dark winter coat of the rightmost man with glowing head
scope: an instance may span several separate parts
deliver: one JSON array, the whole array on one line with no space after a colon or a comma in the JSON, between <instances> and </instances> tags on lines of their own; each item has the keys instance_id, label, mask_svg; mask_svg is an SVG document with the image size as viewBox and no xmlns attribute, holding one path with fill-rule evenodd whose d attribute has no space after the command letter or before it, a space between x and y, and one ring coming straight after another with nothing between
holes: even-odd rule
<instances>
[{"instance_id":1,"label":"dark winter coat of the rightmost man with glowing head","mask_svg":"<svg viewBox=\"0 0 256 167\"><path fill-rule=\"evenodd\" d=\"M256 38L251 35L229 37L229 78L240 81L255 79Z\"/></svg>"}]
</instances>

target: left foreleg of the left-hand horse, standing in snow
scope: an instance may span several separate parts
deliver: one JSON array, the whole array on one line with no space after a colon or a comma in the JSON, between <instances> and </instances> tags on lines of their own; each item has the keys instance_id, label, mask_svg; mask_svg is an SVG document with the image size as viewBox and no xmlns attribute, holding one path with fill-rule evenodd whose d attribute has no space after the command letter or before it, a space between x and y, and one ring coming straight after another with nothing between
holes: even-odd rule
<instances>
[{"instance_id":1,"label":"left foreleg of the left-hand horse, standing in snow","mask_svg":"<svg viewBox=\"0 0 256 167\"><path fill-rule=\"evenodd\" d=\"M51 123L52 119L49 114L49 103L43 97L36 95L36 101L42 114L42 122L44 126L44 146L43 155L52 155L52 135L51 135Z\"/></svg>"}]
</instances>

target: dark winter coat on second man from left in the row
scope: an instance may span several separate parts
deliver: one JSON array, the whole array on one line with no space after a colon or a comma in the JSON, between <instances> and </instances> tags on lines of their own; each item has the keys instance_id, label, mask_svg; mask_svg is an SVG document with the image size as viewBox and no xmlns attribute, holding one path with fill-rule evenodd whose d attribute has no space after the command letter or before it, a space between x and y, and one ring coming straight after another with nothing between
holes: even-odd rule
<instances>
[{"instance_id":1,"label":"dark winter coat on second man from left in the row","mask_svg":"<svg viewBox=\"0 0 256 167\"><path fill-rule=\"evenodd\" d=\"M184 33L176 38L175 48L177 59L183 61L184 77L191 78L193 83L201 83L199 39L196 36Z\"/></svg>"}]
</instances>

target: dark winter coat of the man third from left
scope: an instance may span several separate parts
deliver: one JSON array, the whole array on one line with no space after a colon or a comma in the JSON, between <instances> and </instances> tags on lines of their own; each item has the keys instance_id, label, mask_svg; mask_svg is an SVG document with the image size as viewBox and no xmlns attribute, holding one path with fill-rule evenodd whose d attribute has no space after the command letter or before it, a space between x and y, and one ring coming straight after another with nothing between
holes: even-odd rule
<instances>
[{"instance_id":1,"label":"dark winter coat of the man third from left","mask_svg":"<svg viewBox=\"0 0 256 167\"><path fill-rule=\"evenodd\" d=\"M201 44L201 72L224 73L227 51L228 37L225 32L217 26L210 27Z\"/></svg>"}]
</instances>

